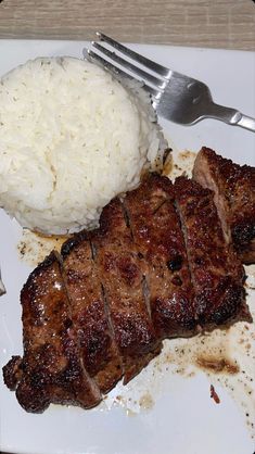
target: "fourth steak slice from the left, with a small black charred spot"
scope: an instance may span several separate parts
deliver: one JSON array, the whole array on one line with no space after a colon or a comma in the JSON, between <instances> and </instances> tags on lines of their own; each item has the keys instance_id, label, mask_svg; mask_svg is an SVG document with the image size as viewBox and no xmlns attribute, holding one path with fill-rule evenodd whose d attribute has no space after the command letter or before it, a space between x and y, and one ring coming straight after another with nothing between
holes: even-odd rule
<instances>
[{"instance_id":1,"label":"fourth steak slice from the left, with a small black charred spot","mask_svg":"<svg viewBox=\"0 0 255 454\"><path fill-rule=\"evenodd\" d=\"M150 174L124 204L144 262L153 325L158 338L191 336L196 326L183 235L167 177Z\"/></svg>"}]
</instances>

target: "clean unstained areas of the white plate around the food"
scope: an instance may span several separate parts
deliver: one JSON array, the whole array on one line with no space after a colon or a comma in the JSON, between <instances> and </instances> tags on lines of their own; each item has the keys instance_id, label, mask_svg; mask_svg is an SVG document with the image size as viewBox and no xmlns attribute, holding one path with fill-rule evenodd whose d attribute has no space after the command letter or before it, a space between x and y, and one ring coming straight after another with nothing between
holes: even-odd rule
<instances>
[{"instance_id":1,"label":"clean unstained areas of the white plate around the food","mask_svg":"<svg viewBox=\"0 0 255 454\"><path fill-rule=\"evenodd\" d=\"M82 47L82 42L74 41L1 40L0 74L39 55L80 56ZM204 80L216 102L255 116L254 53L139 45L133 48ZM255 165L255 135L250 131L211 119L192 127L161 123L179 150L196 151L206 144L235 162ZM29 267L17 257L21 229L3 212L0 225L0 261L8 290L0 300L2 367L11 355L22 353L18 293ZM87 412L51 406L42 415L27 414L1 377L0 449L29 454L252 454L254 439L244 414L226 389L219 386L221 403L216 405L209 399L211 379L205 374L187 379L156 369L153 376L152 370L149 367L142 373L137 386L146 380L144 387L151 387L154 405L132 417L119 405ZM130 389L135 392L136 386Z\"/></svg>"}]
</instances>

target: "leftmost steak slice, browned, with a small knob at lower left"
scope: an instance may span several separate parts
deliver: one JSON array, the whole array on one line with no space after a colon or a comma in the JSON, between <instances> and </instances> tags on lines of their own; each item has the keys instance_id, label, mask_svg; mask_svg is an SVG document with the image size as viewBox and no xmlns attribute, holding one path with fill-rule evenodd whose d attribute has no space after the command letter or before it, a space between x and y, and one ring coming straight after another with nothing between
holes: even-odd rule
<instances>
[{"instance_id":1,"label":"leftmost steak slice, browned, with a small knob at lower left","mask_svg":"<svg viewBox=\"0 0 255 454\"><path fill-rule=\"evenodd\" d=\"M55 252L30 274L21 301L24 357L14 356L3 369L20 404L36 413L50 403L97 405L101 394L80 361Z\"/></svg>"}]
</instances>

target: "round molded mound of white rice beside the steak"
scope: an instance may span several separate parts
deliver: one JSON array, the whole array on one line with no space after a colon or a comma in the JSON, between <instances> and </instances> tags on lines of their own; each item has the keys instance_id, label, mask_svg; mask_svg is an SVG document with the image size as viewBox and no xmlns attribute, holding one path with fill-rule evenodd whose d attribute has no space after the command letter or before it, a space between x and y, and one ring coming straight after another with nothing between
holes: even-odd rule
<instances>
[{"instance_id":1,"label":"round molded mound of white rice beside the steak","mask_svg":"<svg viewBox=\"0 0 255 454\"><path fill-rule=\"evenodd\" d=\"M47 235L94 227L161 140L139 87L74 58L28 61L0 81L0 205Z\"/></svg>"}]
</instances>

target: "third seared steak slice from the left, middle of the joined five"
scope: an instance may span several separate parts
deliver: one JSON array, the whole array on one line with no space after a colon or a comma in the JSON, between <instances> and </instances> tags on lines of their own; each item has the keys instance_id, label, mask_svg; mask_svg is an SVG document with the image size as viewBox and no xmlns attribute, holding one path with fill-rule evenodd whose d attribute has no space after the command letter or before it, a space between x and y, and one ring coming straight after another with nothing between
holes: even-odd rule
<instances>
[{"instance_id":1,"label":"third seared steak slice from the left, middle of the joined five","mask_svg":"<svg viewBox=\"0 0 255 454\"><path fill-rule=\"evenodd\" d=\"M103 209L92 237L109 317L128 382L160 351L143 295L143 274L119 199Z\"/></svg>"}]
</instances>

